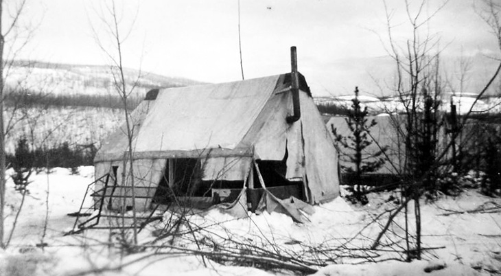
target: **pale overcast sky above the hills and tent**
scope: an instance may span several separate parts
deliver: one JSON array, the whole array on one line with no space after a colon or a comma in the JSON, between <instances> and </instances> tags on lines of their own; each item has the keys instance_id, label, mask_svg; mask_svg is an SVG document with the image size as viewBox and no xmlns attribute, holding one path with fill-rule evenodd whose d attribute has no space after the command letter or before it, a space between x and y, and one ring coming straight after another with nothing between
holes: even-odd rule
<instances>
[{"instance_id":1,"label":"pale overcast sky above the hills and tent","mask_svg":"<svg viewBox=\"0 0 501 276\"><path fill-rule=\"evenodd\" d=\"M37 25L30 50L21 57L49 62L106 64L91 25L100 34L96 12L102 1L27 0L25 19ZM432 0L425 13L442 3ZM117 1L117 3L122 3ZM132 32L124 43L125 65L164 76L204 82L240 80L237 0L123 1L121 23ZM399 43L405 43L402 0L388 0ZM444 56L494 55L496 41L474 9L475 0L451 0L430 21L441 37ZM415 10L415 6L411 10ZM133 21L132 19L135 19ZM290 46L298 49L299 71L314 95L351 93L356 85L370 90L369 76L386 56L382 1L240 0L242 56L246 78L290 71ZM102 36L106 41L106 37Z\"/></svg>"}]
</instances>

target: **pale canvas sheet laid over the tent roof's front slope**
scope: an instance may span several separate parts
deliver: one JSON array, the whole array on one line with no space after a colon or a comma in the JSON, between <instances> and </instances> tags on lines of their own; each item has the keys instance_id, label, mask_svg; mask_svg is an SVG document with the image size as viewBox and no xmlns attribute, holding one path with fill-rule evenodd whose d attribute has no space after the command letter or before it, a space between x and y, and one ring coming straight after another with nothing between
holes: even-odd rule
<instances>
[{"instance_id":1,"label":"pale canvas sheet laid over the tent roof's front slope","mask_svg":"<svg viewBox=\"0 0 501 276\"><path fill-rule=\"evenodd\" d=\"M161 91L144 119L135 151L236 148L268 102L278 78Z\"/></svg>"}]
</instances>

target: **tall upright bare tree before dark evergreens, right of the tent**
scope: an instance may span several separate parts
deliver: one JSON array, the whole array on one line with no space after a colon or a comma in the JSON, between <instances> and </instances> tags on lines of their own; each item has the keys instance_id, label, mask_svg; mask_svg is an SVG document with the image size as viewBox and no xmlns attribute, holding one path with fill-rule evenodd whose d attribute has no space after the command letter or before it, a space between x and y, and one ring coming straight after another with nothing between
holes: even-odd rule
<instances>
[{"instance_id":1,"label":"tall upright bare tree before dark evergreens, right of the tent","mask_svg":"<svg viewBox=\"0 0 501 276\"><path fill-rule=\"evenodd\" d=\"M404 210L406 231L406 254L408 260L421 257L421 208L419 199L423 191L430 196L436 192L435 166L438 155L439 105L443 84L440 76L439 37L430 34L428 24L437 12L447 3L444 1L431 13L427 13L427 0L418 1L413 6L405 1L406 27L409 38L399 42L395 38L392 25L393 11L386 1L383 1L386 11L387 43L385 49L395 62L395 83L392 90L404 108L403 118L392 115L392 121L399 136L403 137L405 145L404 173L401 174L403 204L388 220L381 233L388 229L389 223L396 214ZM400 26L401 27L401 26ZM383 40L382 40L383 41ZM404 124L401 124L401 121ZM415 212L415 242L410 240L408 231L408 203L414 201ZM373 248L377 246L378 236ZM412 249L411 249L412 247Z\"/></svg>"}]
</instances>

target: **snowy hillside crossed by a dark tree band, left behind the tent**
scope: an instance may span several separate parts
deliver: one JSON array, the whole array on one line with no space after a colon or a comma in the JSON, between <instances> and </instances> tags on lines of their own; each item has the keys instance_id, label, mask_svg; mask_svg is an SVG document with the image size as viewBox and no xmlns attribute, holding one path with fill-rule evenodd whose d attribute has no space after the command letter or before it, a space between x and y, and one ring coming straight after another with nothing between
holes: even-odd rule
<instances>
[{"instance_id":1,"label":"snowy hillside crossed by a dark tree band, left behind the tent","mask_svg":"<svg viewBox=\"0 0 501 276\"><path fill-rule=\"evenodd\" d=\"M8 61L5 91L6 150L14 152L21 137L34 148L57 148L69 142L81 149L99 141L124 122L110 68L26 60ZM196 80L125 70L128 87L137 82L128 108L150 89L202 84ZM139 78L138 78L139 77Z\"/></svg>"}]
</instances>

